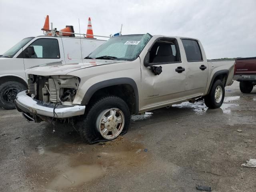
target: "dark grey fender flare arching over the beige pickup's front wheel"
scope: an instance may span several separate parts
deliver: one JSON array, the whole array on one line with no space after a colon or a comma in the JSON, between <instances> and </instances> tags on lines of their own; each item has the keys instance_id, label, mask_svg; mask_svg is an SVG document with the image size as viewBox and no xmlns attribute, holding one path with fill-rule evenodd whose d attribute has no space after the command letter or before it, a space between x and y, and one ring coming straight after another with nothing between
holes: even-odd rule
<instances>
[{"instance_id":1,"label":"dark grey fender flare arching over the beige pickup's front wheel","mask_svg":"<svg viewBox=\"0 0 256 192\"><path fill-rule=\"evenodd\" d=\"M127 77L104 80L90 86L90 88L86 91L84 98L82 99L81 105L87 105L90 99L92 98L92 95L96 91L105 87L120 85L120 84L128 84L132 86L134 90L134 95L135 95L135 112L138 113L139 112L139 94L138 94L137 84L133 79L127 78Z\"/></svg>"}]
</instances>

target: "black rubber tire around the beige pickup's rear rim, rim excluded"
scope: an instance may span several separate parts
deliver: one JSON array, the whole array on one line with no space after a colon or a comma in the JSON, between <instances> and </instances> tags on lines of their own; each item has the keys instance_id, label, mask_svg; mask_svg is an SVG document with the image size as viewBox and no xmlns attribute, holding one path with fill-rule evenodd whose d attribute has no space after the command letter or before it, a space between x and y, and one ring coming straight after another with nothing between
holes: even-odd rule
<instances>
[{"instance_id":1,"label":"black rubber tire around the beige pickup's rear rim, rim excluded","mask_svg":"<svg viewBox=\"0 0 256 192\"><path fill-rule=\"evenodd\" d=\"M220 88L222 89L222 98L221 98L220 102L216 102L216 99L215 99L215 90L218 86L220 86ZM223 103L224 96L225 96L224 85L221 80L216 80L214 82L214 84L212 85L210 93L204 97L204 103L210 109L219 108Z\"/></svg>"}]
</instances>

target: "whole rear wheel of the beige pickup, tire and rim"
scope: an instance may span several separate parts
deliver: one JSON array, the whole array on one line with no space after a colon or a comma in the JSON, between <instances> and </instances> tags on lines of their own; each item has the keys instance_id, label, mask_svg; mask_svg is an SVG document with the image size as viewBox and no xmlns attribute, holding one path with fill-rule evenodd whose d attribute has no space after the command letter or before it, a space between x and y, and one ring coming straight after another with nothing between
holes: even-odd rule
<instances>
[{"instance_id":1,"label":"whole rear wheel of the beige pickup, tire and rim","mask_svg":"<svg viewBox=\"0 0 256 192\"><path fill-rule=\"evenodd\" d=\"M204 103L210 109L219 108L223 103L224 96L224 85L221 80L216 80L212 85L210 93L204 97Z\"/></svg>"}]
</instances>

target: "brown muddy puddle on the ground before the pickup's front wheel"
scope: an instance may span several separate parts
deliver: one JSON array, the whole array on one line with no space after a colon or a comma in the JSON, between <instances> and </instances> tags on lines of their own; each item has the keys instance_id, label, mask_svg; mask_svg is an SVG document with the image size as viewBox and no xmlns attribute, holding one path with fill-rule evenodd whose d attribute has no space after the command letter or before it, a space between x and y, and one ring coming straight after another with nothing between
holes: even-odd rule
<instances>
[{"instance_id":1,"label":"brown muddy puddle on the ground before the pickup's front wheel","mask_svg":"<svg viewBox=\"0 0 256 192\"><path fill-rule=\"evenodd\" d=\"M130 172L149 157L142 144L126 138L94 145L39 145L26 161L27 184L38 191L72 191L109 173Z\"/></svg>"}]
</instances>

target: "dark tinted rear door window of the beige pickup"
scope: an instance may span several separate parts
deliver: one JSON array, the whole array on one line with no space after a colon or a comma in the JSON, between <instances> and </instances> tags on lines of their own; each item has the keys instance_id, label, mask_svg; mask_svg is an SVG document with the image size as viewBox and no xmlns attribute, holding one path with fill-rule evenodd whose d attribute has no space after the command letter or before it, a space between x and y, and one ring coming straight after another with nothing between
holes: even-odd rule
<instances>
[{"instance_id":1,"label":"dark tinted rear door window of the beige pickup","mask_svg":"<svg viewBox=\"0 0 256 192\"><path fill-rule=\"evenodd\" d=\"M202 61L202 53L196 40L182 39L187 61Z\"/></svg>"}]
</instances>

